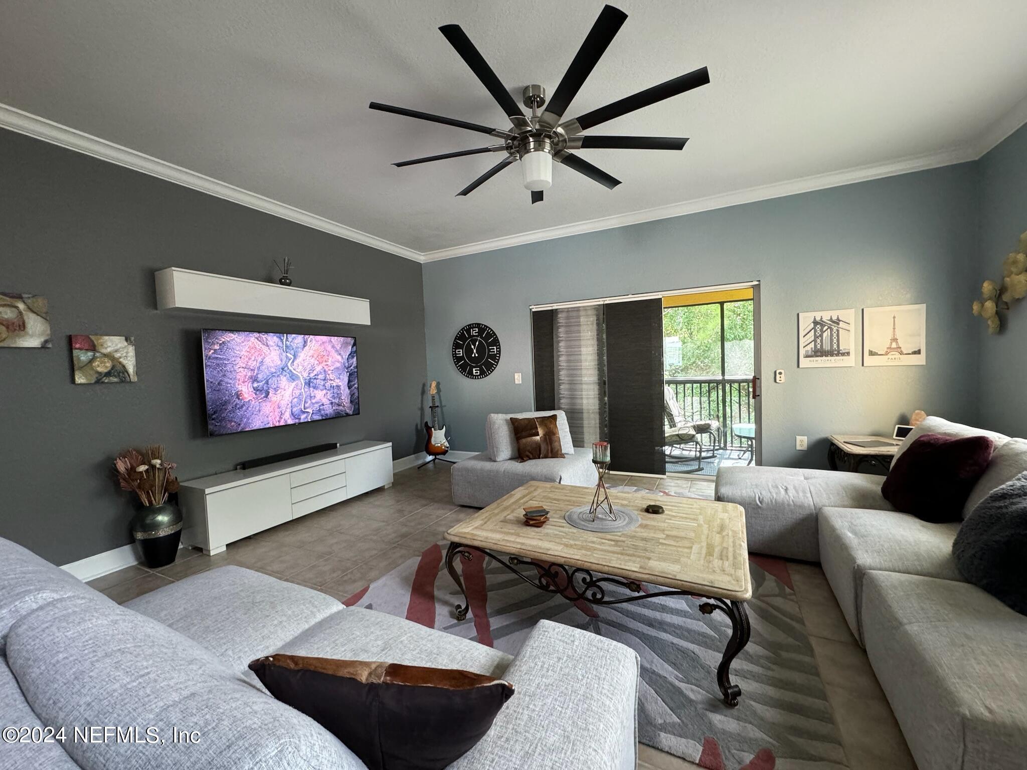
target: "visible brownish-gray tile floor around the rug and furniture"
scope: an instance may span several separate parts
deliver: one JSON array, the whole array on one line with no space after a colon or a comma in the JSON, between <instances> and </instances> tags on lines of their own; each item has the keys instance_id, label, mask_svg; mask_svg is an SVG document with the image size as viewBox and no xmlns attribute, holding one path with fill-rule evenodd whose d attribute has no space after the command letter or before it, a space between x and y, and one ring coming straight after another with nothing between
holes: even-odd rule
<instances>
[{"instance_id":1,"label":"visible brownish-gray tile floor around the rug and furniture","mask_svg":"<svg viewBox=\"0 0 1027 770\"><path fill-rule=\"evenodd\" d=\"M714 485L698 478L610 474L611 486L680 490L713 499ZM183 549L160 570L128 567L89 582L116 602L222 565L238 565L347 599L440 540L473 508L453 505L449 466L396 473L391 489L333 505L303 518L232 543L204 556ZM835 713L851 770L916 770L884 694L853 639L823 571L791 565L799 609L813 644L828 700ZM695 768L649 746L639 746L640 770Z\"/></svg>"}]
</instances>

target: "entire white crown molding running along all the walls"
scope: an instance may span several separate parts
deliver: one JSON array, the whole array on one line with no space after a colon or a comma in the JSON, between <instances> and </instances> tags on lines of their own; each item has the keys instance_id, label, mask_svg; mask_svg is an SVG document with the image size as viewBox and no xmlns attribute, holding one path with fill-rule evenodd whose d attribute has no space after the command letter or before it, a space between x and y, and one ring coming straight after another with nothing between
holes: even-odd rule
<instances>
[{"instance_id":1,"label":"entire white crown molding running along all the walls","mask_svg":"<svg viewBox=\"0 0 1027 770\"><path fill-rule=\"evenodd\" d=\"M581 233L596 232L599 230L609 230L615 227L636 225L642 222L652 222L654 220L669 219L671 217L681 217L687 214L697 214L709 211L715 208L725 208L727 206L740 205L743 203L754 203L760 200L769 200L787 195L798 195L800 193L812 192L814 190L825 190L831 187L851 185L858 182L868 182L870 180L892 177L900 174L910 174L939 166L962 163L978 160L982 155L992 150L1002 140L1006 139L1024 123L1027 123L1027 99L1013 107L1005 115L992 124L987 130L981 133L976 140L964 145L944 150L941 152L928 153L924 155L914 155L899 160L877 163L873 165L847 168L840 171L830 171L828 174L804 177L801 179L778 182L771 185L751 187L746 190L711 195L706 198L685 200L678 203L646 208L639 211L615 215L613 217L603 217L595 220L575 222L569 225L534 230L526 233L507 235L500 238L491 238L466 243L450 248L440 248L433 252L421 253L414 248L400 245L391 241L379 238L369 233L354 230L338 222L334 222L325 217L320 217L309 211L304 211L295 206L281 203L271 198L267 198L257 193L249 192L234 185L219 182L216 179L206 177L196 171L168 163L158 158L145 155L144 153L130 150L126 147L116 145L88 133L70 128L60 123L54 123L46 118L23 112L13 107L0 104L0 127L25 133L29 137L49 142L50 144L75 150L86 155L91 155L101 160L107 160L126 168L132 168L152 177L183 185L193 190L216 195L219 198L231 200L241 205L256 208L267 214L271 214L281 219L290 220L307 227L312 227L333 235L338 235L347 240L364 243L373 248L378 248L389 254L405 257L415 262L433 262L446 260L453 257L463 257L465 255L479 254L481 252L492 252L497 248L523 245L551 238L562 238L567 235L579 235ZM405 458L406 459L406 458Z\"/></svg>"}]
</instances>

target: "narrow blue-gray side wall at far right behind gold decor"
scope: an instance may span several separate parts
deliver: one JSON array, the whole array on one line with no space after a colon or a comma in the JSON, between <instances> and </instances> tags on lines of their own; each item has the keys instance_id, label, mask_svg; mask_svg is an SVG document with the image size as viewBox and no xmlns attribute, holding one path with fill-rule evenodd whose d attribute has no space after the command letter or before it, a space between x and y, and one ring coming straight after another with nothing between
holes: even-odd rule
<instances>
[{"instance_id":1,"label":"narrow blue-gray side wall at far right behind gold decor","mask_svg":"<svg viewBox=\"0 0 1027 770\"><path fill-rule=\"evenodd\" d=\"M985 278L1002 274L1002 260L1027 230L1027 126L978 161L981 172L980 263L967 292L969 303ZM964 310L964 312L967 312ZM1027 383L1027 300L1020 300L1002 320L998 335L988 335L980 318L980 399L982 425L1027 436L1024 388Z\"/></svg>"}]
</instances>

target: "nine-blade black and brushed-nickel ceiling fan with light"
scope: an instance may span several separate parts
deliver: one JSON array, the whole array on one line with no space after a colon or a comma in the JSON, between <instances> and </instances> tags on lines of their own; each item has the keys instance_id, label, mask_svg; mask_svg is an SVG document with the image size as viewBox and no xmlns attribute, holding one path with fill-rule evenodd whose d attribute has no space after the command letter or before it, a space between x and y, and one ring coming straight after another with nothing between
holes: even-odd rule
<instances>
[{"instance_id":1,"label":"nine-blade black and brushed-nickel ceiling fan with light","mask_svg":"<svg viewBox=\"0 0 1027 770\"><path fill-rule=\"evenodd\" d=\"M467 63L471 72L478 76L482 84L488 89L492 98L499 103L506 117L509 119L511 127L509 129L491 128L480 123L469 123L466 120L456 120L442 115L432 115L427 112L408 110L403 107L392 107L378 102L372 102L372 110L391 112L396 115L407 115L408 117L420 120L430 120L434 123L454 125L457 128L466 128L480 133L488 133L490 137L501 139L503 144L492 145L490 147L479 147L473 150L459 150L448 152L443 155L429 155L425 158L415 158L414 160L404 160L392 165L402 167L415 165L417 163L427 163L432 160L445 160L447 158L458 158L463 155L478 155L480 153L497 152L505 153L502 160L496 163L477 180L463 188L457 195L467 195L478 187L495 177L499 171L511 165L515 161L521 161L521 168L524 171L524 186L531 191L531 202L537 203L542 200L542 191L547 190L553 184L553 161L573 168L578 174L583 174L591 180L595 180L604 187L612 190L620 184L620 180L611 177L601 168L597 168L587 160L583 160L571 153L571 150L682 150L688 141L681 137L596 137L583 136L585 131L607 120L613 120L630 112L641 110L643 107L662 102L664 99L676 97L692 88L706 85L710 82L710 73L707 68L689 72L681 77L668 80L667 82L646 88L638 93L617 100L606 107L600 107L583 115L579 115L571 120L563 120L564 113L570 106L571 101L577 94L585 78L596 67L600 57L606 51L607 46L613 40L614 35L627 18L627 14L612 5L603 7L599 18L593 25L574 55L570 67L553 98L546 103L545 89L541 85L528 85L524 88L523 99L525 107L531 108L531 117L527 117L521 110L517 101L502 84L496 73L492 71L489 64L470 42L470 38L460 29L459 25L448 24L440 27L450 44L456 48L456 52ZM542 107L545 111L539 115L538 111ZM562 122L561 122L562 121Z\"/></svg>"}]
</instances>

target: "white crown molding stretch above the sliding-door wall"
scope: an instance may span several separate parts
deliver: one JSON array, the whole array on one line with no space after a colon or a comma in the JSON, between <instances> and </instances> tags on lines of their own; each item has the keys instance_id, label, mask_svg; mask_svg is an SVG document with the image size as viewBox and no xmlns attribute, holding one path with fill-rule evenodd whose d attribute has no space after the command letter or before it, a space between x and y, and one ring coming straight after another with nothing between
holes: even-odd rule
<instances>
[{"instance_id":1,"label":"white crown molding stretch above the sliding-door wall","mask_svg":"<svg viewBox=\"0 0 1027 770\"><path fill-rule=\"evenodd\" d=\"M790 180L788 182L777 182L772 185L762 185L751 187L747 190L723 193L721 195L711 195L707 198L695 198L684 200L680 203L670 203L668 205L645 208L640 211L629 214L618 214L613 217L603 217L601 219L585 220L575 222L570 225L560 225L543 230L534 230L517 235L507 235L501 238L491 238L477 243L467 243L462 246L452 248L441 248L436 252L426 252L423 256L425 262L435 260L448 260L453 257L463 257L468 254L479 254L481 252L492 252L496 248L506 248L507 246L518 246L525 243L534 243L540 240L551 238L563 238L567 235L579 235L581 233L596 232L597 230L609 230L614 227L625 227L626 225L637 225L642 222L652 222L654 220L681 217L686 214L697 214L709 211L714 208L726 208L727 206L740 205L741 203L754 203L770 198L781 198L787 195L797 195L799 193L812 192L814 190L825 190L830 187L840 187L851 185L857 182L868 182L882 177L892 177L910 171L921 171L927 168L937 168L952 163L962 163L967 160L976 160L968 148L960 147L954 150L930 153L927 155L915 155L901 160L889 161L887 163L877 163L874 165L847 168L842 171L830 171L813 177L803 177L801 179Z\"/></svg>"}]
</instances>

